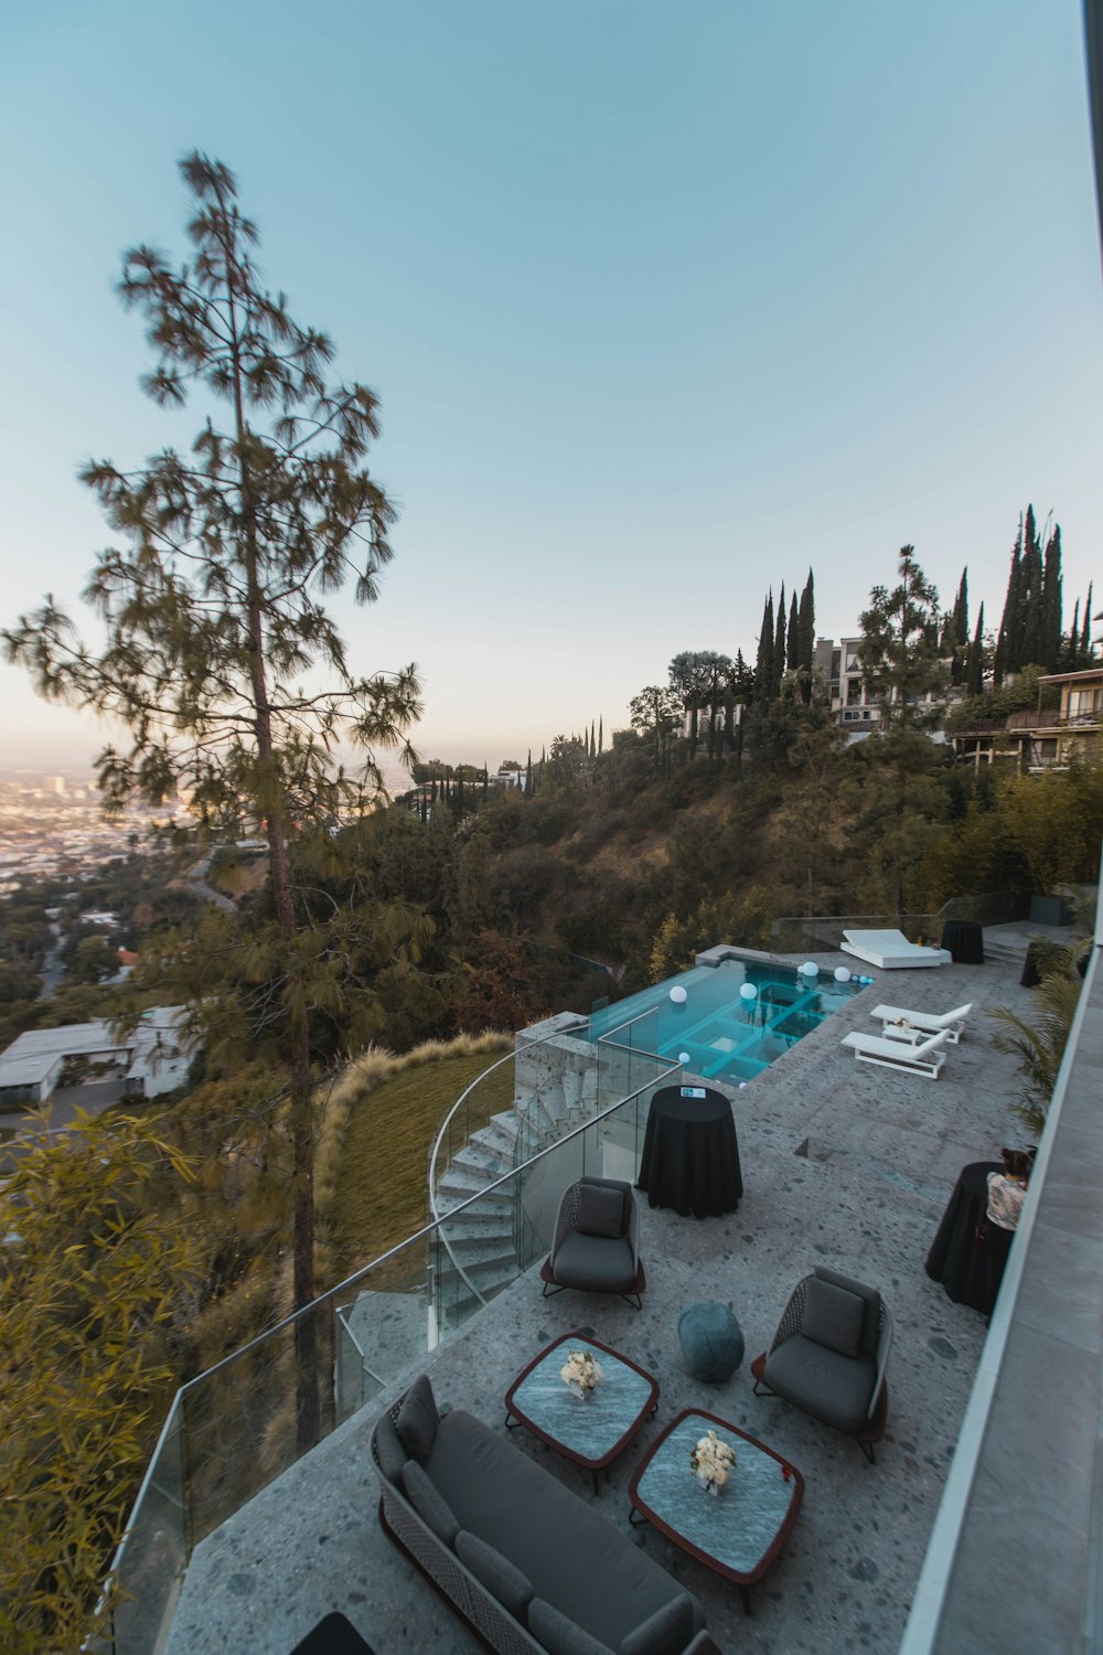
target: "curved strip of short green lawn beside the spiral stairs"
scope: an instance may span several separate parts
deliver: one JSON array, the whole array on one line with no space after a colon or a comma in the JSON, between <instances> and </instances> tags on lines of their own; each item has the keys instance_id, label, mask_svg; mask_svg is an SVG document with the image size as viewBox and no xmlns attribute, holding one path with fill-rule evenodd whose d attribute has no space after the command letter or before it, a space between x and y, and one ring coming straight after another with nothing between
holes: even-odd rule
<instances>
[{"instance_id":1,"label":"curved strip of short green lawn beside the spiral stairs","mask_svg":"<svg viewBox=\"0 0 1103 1655\"><path fill-rule=\"evenodd\" d=\"M465 1086L501 1053L443 1058L403 1069L354 1107L334 1178L332 1235L341 1274L397 1246L427 1218L425 1172L437 1127ZM470 1101L473 1129L513 1102L504 1063ZM478 1111L478 1114L476 1114Z\"/></svg>"}]
</instances>

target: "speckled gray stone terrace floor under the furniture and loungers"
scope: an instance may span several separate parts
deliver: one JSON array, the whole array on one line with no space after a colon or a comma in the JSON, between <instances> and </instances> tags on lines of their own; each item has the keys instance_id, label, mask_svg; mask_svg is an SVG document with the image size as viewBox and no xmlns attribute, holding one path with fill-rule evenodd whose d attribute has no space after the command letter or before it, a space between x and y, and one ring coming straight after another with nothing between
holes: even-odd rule
<instances>
[{"instance_id":1,"label":"speckled gray stone terrace floor under the furniture and loungers","mask_svg":"<svg viewBox=\"0 0 1103 1655\"><path fill-rule=\"evenodd\" d=\"M986 932L986 942L1000 932L1025 948L1019 927ZM853 967L843 957L819 960ZM658 1533L640 1531L647 1549L698 1594L724 1650L832 1655L900 1643L986 1334L984 1319L953 1304L923 1261L961 1167L1024 1140L1007 1114L1015 1064L992 1048L984 1016L992 1005L1029 1006L1019 973L1020 958L870 970L871 988L739 1094L739 1211L698 1221L643 1206L642 1312L575 1293L542 1299L531 1273L425 1364L440 1402L498 1428L509 1380L562 1332L592 1332L650 1369L661 1385L655 1427L612 1466L600 1494L602 1511L625 1533L632 1471L683 1407L719 1413L790 1458L807 1481L804 1508L785 1554L752 1594L751 1619L733 1587ZM868 1010L881 1000L931 1011L974 1003L938 1082L860 1064L840 1049L848 1028L873 1029ZM751 1357L769 1342L794 1283L817 1263L876 1284L896 1319L876 1466L853 1442L751 1390ZM681 1307L706 1298L733 1306L747 1342L744 1365L719 1387L690 1377L676 1339ZM390 1400L346 1422L198 1546L167 1655L284 1655L331 1609L344 1610L379 1655L476 1650L379 1529L369 1438ZM587 1473L524 1432L511 1438L592 1499Z\"/></svg>"}]
</instances>

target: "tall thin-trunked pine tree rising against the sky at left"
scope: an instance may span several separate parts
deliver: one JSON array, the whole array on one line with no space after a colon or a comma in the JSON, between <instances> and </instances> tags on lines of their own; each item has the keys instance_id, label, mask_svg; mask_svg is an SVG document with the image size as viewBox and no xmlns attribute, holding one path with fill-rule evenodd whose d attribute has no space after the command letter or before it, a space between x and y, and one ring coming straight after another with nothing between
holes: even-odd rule
<instances>
[{"instance_id":1,"label":"tall thin-trunked pine tree rising against the sky at left","mask_svg":"<svg viewBox=\"0 0 1103 1655\"><path fill-rule=\"evenodd\" d=\"M318 1043L342 1024L362 1034L359 978L342 980L336 962L357 957L372 915L349 907L322 920L311 905L316 880L296 866L336 854L334 821L367 813L382 788L377 748L413 758L405 730L420 692L413 667L354 677L319 601L351 576L359 602L375 599L390 561L395 511L365 463L375 396L327 384L329 339L261 286L256 228L238 209L233 174L202 154L180 170L197 205L193 260L174 270L139 247L124 257L119 291L149 321L157 361L142 384L154 402L179 409L202 387L227 405L225 427L207 414L189 453L165 449L144 470L107 460L84 468L127 543L99 554L88 588L101 650L74 642L51 599L5 642L41 693L129 730L129 750L107 746L99 758L111 808L132 796L160 803L180 784L205 826L236 828L243 814L263 823L271 917L256 912L248 927L222 917L220 943L177 955L172 971L208 1061L266 1054L289 1077L293 1291L303 1306L314 1296ZM299 690L313 669L334 688ZM359 776L336 761L344 741L361 748ZM309 1316L296 1322L301 1446L318 1433L314 1329Z\"/></svg>"}]
</instances>

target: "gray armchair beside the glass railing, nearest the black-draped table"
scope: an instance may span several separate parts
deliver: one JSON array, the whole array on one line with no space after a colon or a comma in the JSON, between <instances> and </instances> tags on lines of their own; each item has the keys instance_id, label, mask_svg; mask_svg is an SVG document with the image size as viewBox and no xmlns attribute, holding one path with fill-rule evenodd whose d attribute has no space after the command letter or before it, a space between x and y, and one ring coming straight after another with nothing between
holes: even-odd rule
<instances>
[{"instance_id":1,"label":"gray armchair beside the glass railing, nearest the black-draped table","mask_svg":"<svg viewBox=\"0 0 1103 1655\"><path fill-rule=\"evenodd\" d=\"M642 1309L640 1211L630 1183L579 1178L564 1190L552 1250L541 1264L544 1298L564 1288L618 1293Z\"/></svg>"}]
</instances>

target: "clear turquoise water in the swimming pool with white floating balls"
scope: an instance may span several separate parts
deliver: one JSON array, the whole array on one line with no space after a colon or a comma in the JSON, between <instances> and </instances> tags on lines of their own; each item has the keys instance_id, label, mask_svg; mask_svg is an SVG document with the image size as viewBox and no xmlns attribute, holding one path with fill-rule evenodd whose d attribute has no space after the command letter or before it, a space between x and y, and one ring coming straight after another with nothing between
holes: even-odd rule
<instances>
[{"instance_id":1,"label":"clear turquoise water in the swimming pool with white floating balls","mask_svg":"<svg viewBox=\"0 0 1103 1655\"><path fill-rule=\"evenodd\" d=\"M741 995L744 985L754 988L752 998ZM837 983L830 971L807 978L795 967L723 960L698 965L595 1011L590 1039L607 1036L671 1063L685 1053L685 1066L693 1074L752 1081L860 986L857 981ZM671 990L685 990L685 1000L681 995L671 1000Z\"/></svg>"}]
</instances>

